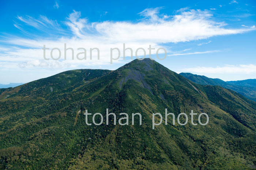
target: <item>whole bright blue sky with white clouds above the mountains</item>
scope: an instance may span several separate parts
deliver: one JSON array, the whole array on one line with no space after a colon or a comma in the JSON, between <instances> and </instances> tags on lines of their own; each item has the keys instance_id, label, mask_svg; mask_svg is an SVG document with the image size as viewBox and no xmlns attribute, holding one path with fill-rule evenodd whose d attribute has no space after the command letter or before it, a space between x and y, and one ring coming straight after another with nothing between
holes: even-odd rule
<instances>
[{"instance_id":1,"label":"whole bright blue sky with white clouds above the mountains","mask_svg":"<svg viewBox=\"0 0 256 170\"><path fill-rule=\"evenodd\" d=\"M66 70L115 70L110 48L165 48L158 60L175 72L210 78L256 78L256 1L8 1L0 2L0 83L30 82ZM71 60L64 43L85 48L86 60ZM59 48L60 60L44 60L43 48ZM90 48L97 47L100 60ZM46 52L49 58L50 50ZM121 54L123 51L121 50ZM139 55L143 55L141 52ZM117 55L117 53L114 53ZM127 52L127 56L129 56ZM56 50L53 56L57 56ZM121 55L122 56L122 55ZM164 55L159 55L163 57ZM134 59L135 57L133 57Z\"/></svg>"}]
</instances>

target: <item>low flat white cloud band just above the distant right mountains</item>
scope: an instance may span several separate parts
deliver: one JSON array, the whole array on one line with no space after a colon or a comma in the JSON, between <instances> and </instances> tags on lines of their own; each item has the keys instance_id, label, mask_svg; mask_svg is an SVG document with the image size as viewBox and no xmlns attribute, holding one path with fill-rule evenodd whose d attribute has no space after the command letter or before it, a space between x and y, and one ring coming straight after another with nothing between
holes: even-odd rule
<instances>
[{"instance_id":1,"label":"low flat white cloud band just above the distant right mountains","mask_svg":"<svg viewBox=\"0 0 256 170\"><path fill-rule=\"evenodd\" d=\"M185 68L182 71L194 73L213 73L213 74L254 74L256 73L256 65L254 64L240 64L237 66L223 66L223 67L193 67Z\"/></svg>"}]
</instances>

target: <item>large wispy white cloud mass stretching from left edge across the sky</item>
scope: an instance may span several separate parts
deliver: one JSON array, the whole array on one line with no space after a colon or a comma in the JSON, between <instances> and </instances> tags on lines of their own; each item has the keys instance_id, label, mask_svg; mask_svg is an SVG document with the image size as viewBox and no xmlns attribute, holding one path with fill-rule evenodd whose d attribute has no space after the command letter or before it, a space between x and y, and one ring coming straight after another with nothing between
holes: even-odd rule
<instances>
[{"instance_id":1,"label":"large wispy white cloud mass stretching from left edge across the sky","mask_svg":"<svg viewBox=\"0 0 256 170\"><path fill-rule=\"evenodd\" d=\"M71 60L71 52L67 52L67 60L59 60L61 67L76 67L84 64L104 65L110 62L110 48L118 47L123 56L123 43L126 48L133 49L133 56L137 48L144 48L148 54L148 46L153 48L164 47L167 52L171 52L165 43L178 43L193 40L207 39L212 36L230 35L243 33L253 30L252 28L231 29L225 28L225 23L214 21L212 13L207 10L188 10L188 8L178 10L173 16L163 15L159 12L160 8L147 8L139 14L143 16L142 20L136 23L128 21L103 21L90 23L88 19L81 17L81 12L73 11L66 18L65 26L68 30L63 29L57 21L51 20L46 16L39 16L35 19L30 16L18 16L21 23L30 25L40 31L48 33L48 36L31 36L31 38L21 38L9 36L1 41L8 44L4 54L0 53L1 60L10 62L25 63L29 67L46 67L51 66L52 60L40 63L43 59L43 50L41 48L59 48L61 50L61 59L64 58L64 43L67 48L74 48L74 54L81 52L77 48L83 47L87 50L87 58L90 55L90 48L97 47L100 50L100 60ZM16 27L23 29L22 24L15 23ZM55 32L54 32L55 31ZM31 32L30 32L31 33ZM60 37L61 36L61 37ZM209 43L209 42L208 42ZM19 46L13 48L13 46ZM0 47L1 48L1 47ZM155 54L156 50L152 50ZM218 51L194 52L187 54L172 55L189 55L204 54ZM49 58L50 50L46 51L46 57ZM130 55L129 50L127 56ZM138 55L143 55L140 50ZM95 56L95 53L93 53ZM29 62L34 61L34 62ZM123 62L117 61L117 62ZM68 65L69 64L69 65ZM23 65L20 65L23 66Z\"/></svg>"}]
</instances>

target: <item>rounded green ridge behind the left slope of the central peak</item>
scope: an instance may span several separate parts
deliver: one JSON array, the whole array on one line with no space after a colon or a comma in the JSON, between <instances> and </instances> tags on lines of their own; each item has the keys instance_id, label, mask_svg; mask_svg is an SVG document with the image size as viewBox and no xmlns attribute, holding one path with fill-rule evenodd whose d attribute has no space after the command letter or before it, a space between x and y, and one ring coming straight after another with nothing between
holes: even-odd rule
<instances>
[{"instance_id":1,"label":"rounded green ridge behind the left slope of the central peak","mask_svg":"<svg viewBox=\"0 0 256 170\"><path fill-rule=\"evenodd\" d=\"M89 80L101 77L111 72L110 70L91 70L91 69L80 69L64 71L48 78L39 79L30 83L23 84L16 88L0 89L4 93L0 94L0 99L11 98L10 95L27 95L27 96L41 96L49 97L56 96L59 93L70 92L76 87L81 86L84 83L88 83ZM19 89L19 93L16 94L14 91Z\"/></svg>"}]
</instances>

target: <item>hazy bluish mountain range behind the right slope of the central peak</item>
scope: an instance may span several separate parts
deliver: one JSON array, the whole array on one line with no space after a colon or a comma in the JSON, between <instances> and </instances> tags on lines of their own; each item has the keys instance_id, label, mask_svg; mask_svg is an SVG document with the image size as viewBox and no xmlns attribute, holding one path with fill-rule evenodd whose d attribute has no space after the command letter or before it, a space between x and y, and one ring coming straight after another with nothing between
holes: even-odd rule
<instances>
[{"instance_id":1,"label":"hazy bluish mountain range behind the right slope of the central peak","mask_svg":"<svg viewBox=\"0 0 256 170\"><path fill-rule=\"evenodd\" d=\"M200 76L191 73L180 73L185 78L202 85L221 86L229 88L245 96L248 99L256 101L256 79L240 80L240 81L228 81L225 82L221 79L212 79L206 76Z\"/></svg>"}]
</instances>

